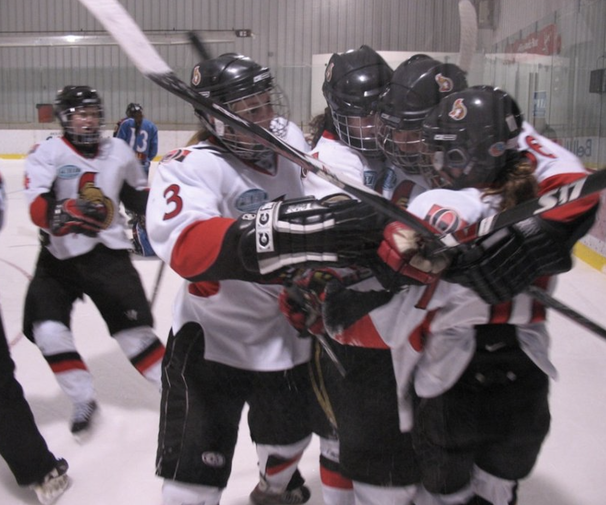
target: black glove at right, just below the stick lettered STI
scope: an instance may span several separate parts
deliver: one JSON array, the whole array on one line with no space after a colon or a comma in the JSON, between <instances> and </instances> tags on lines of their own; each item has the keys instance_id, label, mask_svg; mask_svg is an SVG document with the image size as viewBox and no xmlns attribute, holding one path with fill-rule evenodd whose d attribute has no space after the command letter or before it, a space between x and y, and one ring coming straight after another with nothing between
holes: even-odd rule
<instances>
[{"instance_id":1,"label":"black glove at right, just below the stick lettered STI","mask_svg":"<svg viewBox=\"0 0 606 505\"><path fill-rule=\"evenodd\" d=\"M578 226L532 217L497 230L454 256L444 279L470 287L487 303L508 301L536 278L571 269L572 246L588 220L593 217Z\"/></svg>"}]
</instances>

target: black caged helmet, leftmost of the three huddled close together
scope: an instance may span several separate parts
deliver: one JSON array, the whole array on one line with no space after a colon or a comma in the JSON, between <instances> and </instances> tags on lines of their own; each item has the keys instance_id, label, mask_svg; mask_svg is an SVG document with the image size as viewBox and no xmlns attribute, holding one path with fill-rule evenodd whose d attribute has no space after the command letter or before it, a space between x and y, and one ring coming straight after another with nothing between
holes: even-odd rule
<instances>
[{"instance_id":1,"label":"black caged helmet, leftmost of the three huddled close together","mask_svg":"<svg viewBox=\"0 0 606 505\"><path fill-rule=\"evenodd\" d=\"M376 144L374 115L379 95L392 73L387 62L368 45L333 54L324 73L322 93L339 138L365 155L381 154ZM373 121L361 125L361 118Z\"/></svg>"}]
</instances>

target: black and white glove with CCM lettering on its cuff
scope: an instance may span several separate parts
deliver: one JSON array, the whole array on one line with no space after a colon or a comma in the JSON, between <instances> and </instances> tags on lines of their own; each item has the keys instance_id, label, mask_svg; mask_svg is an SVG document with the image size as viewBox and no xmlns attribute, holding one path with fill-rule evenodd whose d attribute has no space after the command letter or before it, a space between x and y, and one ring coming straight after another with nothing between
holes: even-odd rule
<instances>
[{"instance_id":1,"label":"black and white glove with CCM lettering on its cuff","mask_svg":"<svg viewBox=\"0 0 606 505\"><path fill-rule=\"evenodd\" d=\"M269 202L243 215L238 255L250 272L288 266L350 266L376 258L385 219L363 202L313 196Z\"/></svg>"}]
</instances>

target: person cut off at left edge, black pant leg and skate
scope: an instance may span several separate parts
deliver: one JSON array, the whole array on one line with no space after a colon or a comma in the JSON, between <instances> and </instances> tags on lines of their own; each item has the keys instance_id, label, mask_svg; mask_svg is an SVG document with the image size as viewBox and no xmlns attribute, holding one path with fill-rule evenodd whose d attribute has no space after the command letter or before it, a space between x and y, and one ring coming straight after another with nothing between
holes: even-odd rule
<instances>
[{"instance_id":1,"label":"person cut off at left edge, black pant leg and skate","mask_svg":"<svg viewBox=\"0 0 606 505\"><path fill-rule=\"evenodd\" d=\"M5 213L4 182L0 178L0 227ZM44 505L53 503L70 484L67 461L57 459L48 449L36 426L23 388L15 378L15 362L10 356L4 324L0 318L0 455L19 486L36 492Z\"/></svg>"}]
</instances>

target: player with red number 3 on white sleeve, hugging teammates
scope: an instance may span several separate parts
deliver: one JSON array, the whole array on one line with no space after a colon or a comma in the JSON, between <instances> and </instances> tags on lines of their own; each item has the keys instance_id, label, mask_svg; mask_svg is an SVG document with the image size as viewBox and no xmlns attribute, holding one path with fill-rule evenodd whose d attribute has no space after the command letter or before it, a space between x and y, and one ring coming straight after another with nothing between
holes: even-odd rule
<instances>
[{"instance_id":1,"label":"player with red number 3 on white sleeve, hugging teammates","mask_svg":"<svg viewBox=\"0 0 606 505\"><path fill-rule=\"evenodd\" d=\"M308 150L270 70L250 58L228 53L201 62L191 86ZM264 272L321 253L344 259L354 238L358 254L359 232L374 217L353 200L302 198L298 166L215 116L196 114L204 125L199 142L164 156L146 215L153 249L185 279L162 376L156 468L163 503L219 503L245 404L260 472L251 500L304 503L310 492L297 466L311 436L311 344L279 312L281 286L272 282L281 279Z\"/></svg>"}]
</instances>

